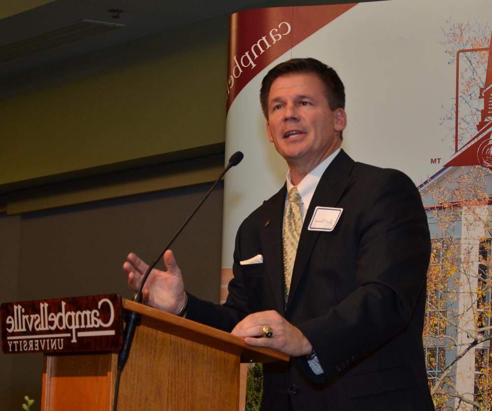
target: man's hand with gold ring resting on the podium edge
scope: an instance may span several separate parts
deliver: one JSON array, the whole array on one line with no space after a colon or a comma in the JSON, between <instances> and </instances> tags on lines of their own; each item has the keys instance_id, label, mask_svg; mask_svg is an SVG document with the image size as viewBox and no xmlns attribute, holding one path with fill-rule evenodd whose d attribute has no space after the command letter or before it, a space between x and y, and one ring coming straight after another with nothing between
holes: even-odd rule
<instances>
[{"instance_id":1,"label":"man's hand with gold ring resting on the podium edge","mask_svg":"<svg viewBox=\"0 0 492 411\"><path fill-rule=\"evenodd\" d=\"M263 325L272 327L272 337L261 337ZM274 348L293 357L309 355L312 351L311 344L301 330L280 316L277 311L250 314L238 322L231 334L244 337L249 346Z\"/></svg>"}]
</instances>

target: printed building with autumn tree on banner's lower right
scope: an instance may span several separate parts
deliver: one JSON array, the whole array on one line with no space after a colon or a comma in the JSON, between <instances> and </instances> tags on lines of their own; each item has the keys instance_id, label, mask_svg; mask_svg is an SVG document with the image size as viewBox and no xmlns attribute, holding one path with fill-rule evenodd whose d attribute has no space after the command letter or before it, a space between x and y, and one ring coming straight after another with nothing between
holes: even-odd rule
<instances>
[{"instance_id":1,"label":"printed building with autumn tree on banner's lower right","mask_svg":"<svg viewBox=\"0 0 492 411\"><path fill-rule=\"evenodd\" d=\"M423 192L433 204L424 345L438 411L492 409L489 181L484 167L455 167Z\"/></svg>"}]
</instances>

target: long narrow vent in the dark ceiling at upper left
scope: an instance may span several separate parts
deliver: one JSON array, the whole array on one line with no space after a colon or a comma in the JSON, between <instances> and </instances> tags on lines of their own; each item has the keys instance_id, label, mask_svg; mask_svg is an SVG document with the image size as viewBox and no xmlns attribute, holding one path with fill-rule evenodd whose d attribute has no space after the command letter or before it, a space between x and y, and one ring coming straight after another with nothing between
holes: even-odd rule
<instances>
[{"instance_id":1,"label":"long narrow vent in the dark ceiling at upper left","mask_svg":"<svg viewBox=\"0 0 492 411\"><path fill-rule=\"evenodd\" d=\"M37 34L15 43L0 46L0 63L28 56L40 51L72 43L93 35L124 27L124 24L106 23L94 20L81 20L61 29Z\"/></svg>"}]
</instances>

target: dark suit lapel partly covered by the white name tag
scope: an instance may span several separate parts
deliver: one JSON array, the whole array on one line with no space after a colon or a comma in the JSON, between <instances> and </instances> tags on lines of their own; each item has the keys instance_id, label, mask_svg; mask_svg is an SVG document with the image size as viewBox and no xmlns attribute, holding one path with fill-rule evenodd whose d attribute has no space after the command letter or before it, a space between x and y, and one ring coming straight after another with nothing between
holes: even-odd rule
<instances>
[{"instance_id":1,"label":"dark suit lapel partly covered by the white name tag","mask_svg":"<svg viewBox=\"0 0 492 411\"><path fill-rule=\"evenodd\" d=\"M350 181L350 171L354 165L354 160L350 158L343 150L333 159L328 168L325 170L321 179L314 190L309 208L307 209L304 220L299 245L297 246L296 260L292 271L292 280L290 283L289 299L287 307L296 292L297 285L301 280L306 269L307 261L314 248L314 244L320 234L319 231L309 231L307 229L311 221L314 209L317 206L335 207L338 204L345 188ZM283 214L283 213L282 213ZM325 235L329 233L325 233Z\"/></svg>"}]
</instances>

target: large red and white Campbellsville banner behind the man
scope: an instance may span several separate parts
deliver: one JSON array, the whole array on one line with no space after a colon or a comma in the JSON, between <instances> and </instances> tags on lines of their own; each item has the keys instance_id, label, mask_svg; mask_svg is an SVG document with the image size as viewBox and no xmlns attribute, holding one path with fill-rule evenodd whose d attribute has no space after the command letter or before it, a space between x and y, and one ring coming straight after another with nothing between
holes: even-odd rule
<instances>
[{"instance_id":1,"label":"large red and white Campbellsville banner behind the man","mask_svg":"<svg viewBox=\"0 0 492 411\"><path fill-rule=\"evenodd\" d=\"M261 80L282 61L317 58L345 84L342 148L422 192L433 238L424 340L443 410L492 404L491 22L490 0L389 0L247 10L230 23L226 158L245 159L225 180L224 283L239 224L287 172L267 138Z\"/></svg>"}]
</instances>

